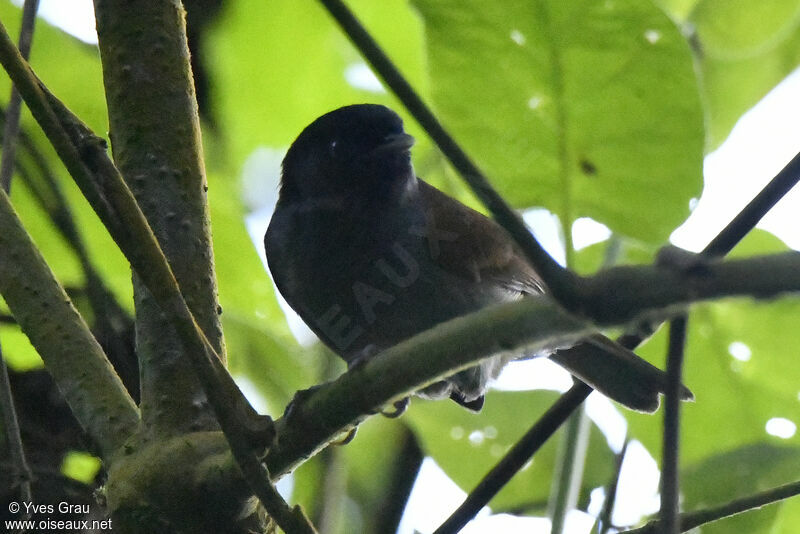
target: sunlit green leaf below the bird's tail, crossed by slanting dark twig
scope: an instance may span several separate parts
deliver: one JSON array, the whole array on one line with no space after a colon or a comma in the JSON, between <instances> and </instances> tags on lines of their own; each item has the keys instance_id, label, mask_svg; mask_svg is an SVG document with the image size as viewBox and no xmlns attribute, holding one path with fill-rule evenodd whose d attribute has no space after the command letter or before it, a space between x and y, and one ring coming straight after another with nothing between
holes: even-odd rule
<instances>
[{"instance_id":1,"label":"sunlit green leaf below the bird's tail, crossed by slanting dark twig","mask_svg":"<svg viewBox=\"0 0 800 534\"><path fill-rule=\"evenodd\" d=\"M557 393L549 391L490 391L478 414L452 402L414 399L405 417L425 453L469 492L557 398ZM558 438L549 440L492 499L490 506L494 510L544 513L557 449ZM592 488L608 483L613 466L613 454L605 438L592 425L582 502Z\"/></svg>"}]
</instances>

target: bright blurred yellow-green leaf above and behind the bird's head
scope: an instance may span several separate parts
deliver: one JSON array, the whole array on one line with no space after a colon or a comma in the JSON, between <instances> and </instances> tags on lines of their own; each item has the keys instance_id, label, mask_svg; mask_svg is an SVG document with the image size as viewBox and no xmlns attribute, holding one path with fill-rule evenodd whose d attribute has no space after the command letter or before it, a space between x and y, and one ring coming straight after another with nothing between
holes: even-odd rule
<instances>
[{"instance_id":1,"label":"bright blurred yellow-green leaf above and behind the bird's head","mask_svg":"<svg viewBox=\"0 0 800 534\"><path fill-rule=\"evenodd\" d=\"M348 4L424 89L422 30L405 1ZM399 111L385 92L348 83L348 69L364 60L317 2L276 0L268 8L260 0L230 2L210 38L218 116L236 169L259 145L288 147L306 125L337 107L374 102Z\"/></svg>"}]
</instances>

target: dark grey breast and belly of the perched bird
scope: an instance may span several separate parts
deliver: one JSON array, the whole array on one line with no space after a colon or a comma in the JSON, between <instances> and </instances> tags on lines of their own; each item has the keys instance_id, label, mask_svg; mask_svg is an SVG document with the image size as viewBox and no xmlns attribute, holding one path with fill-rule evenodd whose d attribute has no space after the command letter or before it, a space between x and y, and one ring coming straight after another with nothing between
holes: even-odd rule
<instances>
[{"instance_id":1,"label":"dark grey breast and belly of the perched bird","mask_svg":"<svg viewBox=\"0 0 800 534\"><path fill-rule=\"evenodd\" d=\"M423 223L391 210L279 215L267 234L270 269L292 308L351 360L500 300L496 287L442 269L432 241L447 236L426 235Z\"/></svg>"}]
</instances>

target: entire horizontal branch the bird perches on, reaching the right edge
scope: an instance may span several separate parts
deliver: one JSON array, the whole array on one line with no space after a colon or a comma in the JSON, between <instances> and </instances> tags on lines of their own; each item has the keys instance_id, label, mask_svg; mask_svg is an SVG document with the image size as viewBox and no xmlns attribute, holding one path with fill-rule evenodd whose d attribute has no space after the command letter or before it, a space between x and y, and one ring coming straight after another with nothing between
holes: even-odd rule
<instances>
[{"instance_id":1,"label":"entire horizontal branch the bird perches on, reaching the right edge","mask_svg":"<svg viewBox=\"0 0 800 534\"><path fill-rule=\"evenodd\" d=\"M700 269L700 267L698 267ZM800 291L800 253L702 263L699 273L661 266L615 267L586 278L599 326L667 317L701 300L774 297ZM387 349L337 380L301 395L276 421L277 444L267 455L275 476L313 456L382 406L501 350L569 345L593 328L552 301L523 299L443 323Z\"/></svg>"}]
</instances>

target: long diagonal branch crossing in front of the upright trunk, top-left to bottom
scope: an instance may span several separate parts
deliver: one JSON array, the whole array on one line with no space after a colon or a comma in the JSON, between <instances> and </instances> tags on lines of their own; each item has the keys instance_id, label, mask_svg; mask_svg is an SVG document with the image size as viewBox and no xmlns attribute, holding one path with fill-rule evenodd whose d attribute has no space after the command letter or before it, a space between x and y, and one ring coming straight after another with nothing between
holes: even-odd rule
<instances>
[{"instance_id":1,"label":"long diagonal branch crossing in front of the upright trunk, top-left to bottom","mask_svg":"<svg viewBox=\"0 0 800 534\"><path fill-rule=\"evenodd\" d=\"M108 159L105 143L47 91L19 56L2 24L0 63L70 175L175 328L253 492L279 525L296 526L288 532L313 532L302 511L290 508L276 492L266 468L253 454L254 449L263 450L271 443L271 419L253 410L195 321L144 214L119 170Z\"/></svg>"}]
</instances>

